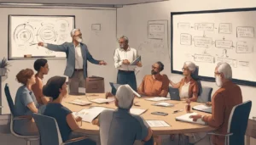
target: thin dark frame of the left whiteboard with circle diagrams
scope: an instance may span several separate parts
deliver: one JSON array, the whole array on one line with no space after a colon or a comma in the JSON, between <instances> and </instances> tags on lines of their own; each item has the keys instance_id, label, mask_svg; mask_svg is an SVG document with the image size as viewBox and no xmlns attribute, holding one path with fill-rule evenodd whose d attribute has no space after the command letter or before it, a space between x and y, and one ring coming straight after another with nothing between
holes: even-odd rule
<instances>
[{"instance_id":1,"label":"thin dark frame of the left whiteboard with circle diagrams","mask_svg":"<svg viewBox=\"0 0 256 145\"><path fill-rule=\"evenodd\" d=\"M42 57L32 57L32 58L23 58L23 57L11 57L11 53L10 53L10 49L11 49L11 35L10 35L10 27L11 27L11 22L10 22L10 18L12 16L32 16L32 17L72 17L73 18L73 29L76 27L76 23L75 23L75 15L26 15L26 14L9 14L8 16L8 60L22 60L22 59L40 59L40 58L46 58L46 59L66 59L67 57L51 57L51 56L42 56Z\"/></svg>"}]
</instances>

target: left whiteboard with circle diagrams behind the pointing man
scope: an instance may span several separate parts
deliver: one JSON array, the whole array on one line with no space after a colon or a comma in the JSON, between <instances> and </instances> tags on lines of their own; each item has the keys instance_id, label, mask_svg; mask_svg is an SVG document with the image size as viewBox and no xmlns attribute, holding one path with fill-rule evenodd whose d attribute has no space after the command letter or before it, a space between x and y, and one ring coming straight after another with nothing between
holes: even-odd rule
<instances>
[{"instance_id":1,"label":"left whiteboard with circle diagrams behind the pointing man","mask_svg":"<svg viewBox=\"0 0 256 145\"><path fill-rule=\"evenodd\" d=\"M38 42L60 45L72 42L74 16L9 15L9 59L34 57L66 58L66 53L38 47Z\"/></svg>"}]
</instances>

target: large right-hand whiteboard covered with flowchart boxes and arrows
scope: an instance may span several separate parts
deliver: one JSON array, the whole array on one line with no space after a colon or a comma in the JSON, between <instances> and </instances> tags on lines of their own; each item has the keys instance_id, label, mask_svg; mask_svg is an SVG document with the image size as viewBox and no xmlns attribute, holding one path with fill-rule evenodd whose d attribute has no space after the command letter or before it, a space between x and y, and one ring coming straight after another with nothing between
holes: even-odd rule
<instances>
[{"instance_id":1,"label":"large right-hand whiteboard covered with flowchart boxes and arrows","mask_svg":"<svg viewBox=\"0 0 256 145\"><path fill-rule=\"evenodd\" d=\"M172 73L184 61L199 66L205 81L215 81L219 62L230 64L236 83L256 86L256 9L172 13Z\"/></svg>"}]
</instances>

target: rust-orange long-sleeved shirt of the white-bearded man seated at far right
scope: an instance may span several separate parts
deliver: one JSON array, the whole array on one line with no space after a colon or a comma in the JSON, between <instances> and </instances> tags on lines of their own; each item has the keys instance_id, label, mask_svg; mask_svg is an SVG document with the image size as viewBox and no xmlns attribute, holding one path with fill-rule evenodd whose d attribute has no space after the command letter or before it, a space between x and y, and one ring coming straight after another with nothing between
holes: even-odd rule
<instances>
[{"instance_id":1,"label":"rust-orange long-sleeved shirt of the white-bearded man seated at far right","mask_svg":"<svg viewBox=\"0 0 256 145\"><path fill-rule=\"evenodd\" d=\"M202 120L217 128L220 134L227 133L230 113L234 106L242 103L241 89L228 81L214 93L212 97L212 115L204 116ZM213 136L214 145L224 145L224 137Z\"/></svg>"}]
</instances>

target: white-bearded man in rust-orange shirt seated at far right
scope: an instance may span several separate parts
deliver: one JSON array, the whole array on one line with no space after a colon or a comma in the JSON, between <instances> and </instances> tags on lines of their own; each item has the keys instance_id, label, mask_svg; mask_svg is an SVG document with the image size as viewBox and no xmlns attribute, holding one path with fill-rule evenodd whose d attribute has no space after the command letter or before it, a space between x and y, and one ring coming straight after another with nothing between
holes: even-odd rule
<instances>
[{"instance_id":1,"label":"white-bearded man in rust-orange shirt seated at far right","mask_svg":"<svg viewBox=\"0 0 256 145\"><path fill-rule=\"evenodd\" d=\"M208 125L216 128L217 133L228 133L230 112L234 106L242 103L241 89L234 84L230 64L219 63L215 69L216 84L220 88L212 97L212 115L191 115L194 121L203 120ZM212 136L214 145L224 145L224 136Z\"/></svg>"}]
</instances>

